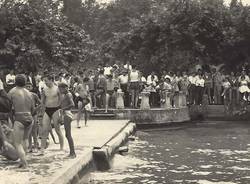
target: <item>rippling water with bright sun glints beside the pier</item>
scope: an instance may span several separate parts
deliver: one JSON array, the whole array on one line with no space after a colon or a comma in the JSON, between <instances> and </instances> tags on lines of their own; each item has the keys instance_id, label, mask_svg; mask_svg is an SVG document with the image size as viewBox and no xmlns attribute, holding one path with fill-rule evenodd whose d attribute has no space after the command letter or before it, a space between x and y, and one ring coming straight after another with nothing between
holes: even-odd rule
<instances>
[{"instance_id":1,"label":"rippling water with bright sun glints beside the pier","mask_svg":"<svg viewBox=\"0 0 250 184\"><path fill-rule=\"evenodd\" d=\"M111 170L81 183L248 184L249 128L228 123L138 132L128 155L116 155Z\"/></svg>"}]
</instances>

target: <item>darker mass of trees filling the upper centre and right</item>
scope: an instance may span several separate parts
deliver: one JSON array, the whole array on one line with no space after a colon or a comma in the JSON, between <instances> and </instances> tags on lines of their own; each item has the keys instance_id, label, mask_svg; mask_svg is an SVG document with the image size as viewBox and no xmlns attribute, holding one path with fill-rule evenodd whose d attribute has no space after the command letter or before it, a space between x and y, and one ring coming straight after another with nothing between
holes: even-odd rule
<instances>
[{"instance_id":1,"label":"darker mass of trees filling the upper centre and right","mask_svg":"<svg viewBox=\"0 0 250 184\"><path fill-rule=\"evenodd\" d=\"M195 64L249 62L250 7L237 0L89 0L82 24L100 43L103 60L130 60L145 72Z\"/></svg>"}]
</instances>

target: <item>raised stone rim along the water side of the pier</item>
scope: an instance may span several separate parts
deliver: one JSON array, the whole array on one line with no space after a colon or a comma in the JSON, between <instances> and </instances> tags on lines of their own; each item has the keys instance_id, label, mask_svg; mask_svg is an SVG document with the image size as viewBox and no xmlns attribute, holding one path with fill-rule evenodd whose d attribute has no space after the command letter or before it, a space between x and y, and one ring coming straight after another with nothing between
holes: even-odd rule
<instances>
[{"instance_id":1,"label":"raised stone rim along the water side of the pier","mask_svg":"<svg viewBox=\"0 0 250 184\"><path fill-rule=\"evenodd\" d=\"M102 148L94 148L88 154L84 154L77 159L74 164L65 169L49 184L76 184L94 164L109 167L109 161L116 153L117 149L128 140L128 137L136 130L136 124L128 122L120 132L115 134ZM99 159L98 159L99 158ZM108 164L108 165L105 165ZM100 169L102 170L102 169Z\"/></svg>"}]
</instances>

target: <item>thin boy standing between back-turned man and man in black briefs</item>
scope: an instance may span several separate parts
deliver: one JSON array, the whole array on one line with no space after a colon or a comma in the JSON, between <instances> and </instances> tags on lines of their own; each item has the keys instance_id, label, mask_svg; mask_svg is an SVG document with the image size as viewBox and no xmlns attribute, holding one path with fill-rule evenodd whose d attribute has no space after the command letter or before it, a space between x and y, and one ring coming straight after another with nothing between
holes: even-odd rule
<instances>
[{"instance_id":1,"label":"thin boy standing between back-turned man and man in black briefs","mask_svg":"<svg viewBox=\"0 0 250 184\"><path fill-rule=\"evenodd\" d=\"M33 152L33 149L32 149L32 138L33 138L33 141L34 141L34 152L37 152L38 150L38 112L41 108L41 100L39 99L39 97L37 96L36 93L33 93L32 90L33 90L33 86L31 83L27 82L26 84L26 89L31 93L32 95L32 100L33 100L33 103L34 103L34 112L32 114L33 116L33 119L34 119L34 123L33 123L33 126L32 126L32 130L31 130L31 134L29 136L29 152Z\"/></svg>"}]
</instances>

